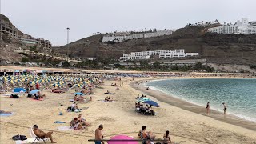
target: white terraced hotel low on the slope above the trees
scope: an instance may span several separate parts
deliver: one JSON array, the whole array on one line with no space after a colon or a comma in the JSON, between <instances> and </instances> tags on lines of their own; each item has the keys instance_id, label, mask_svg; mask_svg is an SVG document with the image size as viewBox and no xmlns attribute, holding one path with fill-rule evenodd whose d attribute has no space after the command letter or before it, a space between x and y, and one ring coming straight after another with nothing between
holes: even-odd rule
<instances>
[{"instance_id":1,"label":"white terraced hotel low on the slope above the trees","mask_svg":"<svg viewBox=\"0 0 256 144\"><path fill-rule=\"evenodd\" d=\"M158 55L159 58L183 58L183 57L198 57L198 53L185 53L184 49L178 50L155 50L155 51L142 51L131 52L130 54L123 54L120 57L121 61L127 60L143 60L150 59L151 55Z\"/></svg>"}]
</instances>

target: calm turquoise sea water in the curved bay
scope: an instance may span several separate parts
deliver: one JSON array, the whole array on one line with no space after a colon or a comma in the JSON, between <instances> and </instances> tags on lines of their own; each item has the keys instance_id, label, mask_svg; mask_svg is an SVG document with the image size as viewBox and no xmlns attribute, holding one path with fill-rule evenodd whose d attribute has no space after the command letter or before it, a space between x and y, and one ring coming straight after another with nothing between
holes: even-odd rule
<instances>
[{"instance_id":1,"label":"calm turquoise sea water in the curved bay","mask_svg":"<svg viewBox=\"0 0 256 144\"><path fill-rule=\"evenodd\" d=\"M187 102L223 111L256 122L256 79L198 78L169 79L146 83L150 89L159 90Z\"/></svg>"}]
</instances>

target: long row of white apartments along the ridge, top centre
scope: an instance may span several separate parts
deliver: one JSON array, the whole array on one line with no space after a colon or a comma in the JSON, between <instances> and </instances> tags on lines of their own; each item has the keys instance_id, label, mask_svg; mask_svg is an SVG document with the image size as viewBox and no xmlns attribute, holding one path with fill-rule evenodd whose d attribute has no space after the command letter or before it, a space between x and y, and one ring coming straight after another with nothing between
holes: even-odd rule
<instances>
[{"instance_id":1,"label":"long row of white apartments along the ridge, top centre","mask_svg":"<svg viewBox=\"0 0 256 144\"><path fill-rule=\"evenodd\" d=\"M135 38L150 38L150 37L158 37L162 35L170 35L174 32L174 30L158 30L152 33L138 33L138 34L130 34L130 35L106 35L103 36L102 42L123 42L125 40L135 39Z\"/></svg>"}]
</instances>

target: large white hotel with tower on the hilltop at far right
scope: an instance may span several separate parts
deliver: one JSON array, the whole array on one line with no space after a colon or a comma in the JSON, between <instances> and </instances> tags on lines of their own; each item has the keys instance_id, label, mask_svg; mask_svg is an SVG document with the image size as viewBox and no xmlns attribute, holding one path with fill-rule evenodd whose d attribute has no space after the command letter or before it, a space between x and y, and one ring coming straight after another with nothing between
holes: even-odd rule
<instances>
[{"instance_id":1,"label":"large white hotel with tower on the hilltop at far right","mask_svg":"<svg viewBox=\"0 0 256 144\"><path fill-rule=\"evenodd\" d=\"M208 31L218 34L256 34L256 21L248 22L248 18L242 18L241 22L213 27Z\"/></svg>"}]
</instances>

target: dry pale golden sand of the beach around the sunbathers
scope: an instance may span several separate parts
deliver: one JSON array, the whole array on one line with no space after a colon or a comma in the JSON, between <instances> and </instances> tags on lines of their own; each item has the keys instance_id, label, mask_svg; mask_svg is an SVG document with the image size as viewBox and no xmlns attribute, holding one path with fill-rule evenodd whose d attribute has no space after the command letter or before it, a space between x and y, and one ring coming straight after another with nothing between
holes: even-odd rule
<instances>
[{"instance_id":1,"label":"dry pale golden sand of the beach around the sunbathers","mask_svg":"<svg viewBox=\"0 0 256 144\"><path fill-rule=\"evenodd\" d=\"M146 79L152 78L136 78L135 80L145 81ZM42 93L47 97L44 101L34 101L26 96L11 99L1 94L1 110L14 112L14 115L10 117L0 117L1 142L14 143L10 138L16 134L23 134L30 138L29 127L34 124L44 131L53 130L54 141L58 143L94 143L88 142L88 139L94 138L94 130L99 124L104 126L103 134L106 139L117 134L126 134L137 139L138 130L145 125L147 130L153 131L156 137L161 139L166 130L170 130L171 139L179 143L182 141L186 141L185 143L256 142L253 123L226 122L231 117L226 120L217 118L214 116L218 115L217 112L213 116L206 116L197 106L180 102L175 105L176 102L166 101L164 94L156 91L143 92L142 87L134 89L134 81L131 81L131 78L122 78L122 82L126 82L127 86L119 86L120 90L110 86L111 83L119 85L120 81L105 81L103 89L94 89L94 94L91 94L92 102L78 103L78 107L88 107L81 113L66 112L66 108L71 106L69 99L74 98L74 91L71 90L64 94L54 94L50 90L43 91ZM104 94L106 90L116 93L110 95L115 102L101 101L106 97ZM146 116L134 111L137 94L146 94L147 97L158 102L160 107L154 108L156 116ZM58 115L59 112L63 115ZM82 131L58 130L58 126L69 126L71 119L78 117L78 114L82 114L82 118L86 118L92 126ZM55 121L66 123L56 124Z\"/></svg>"}]
</instances>

